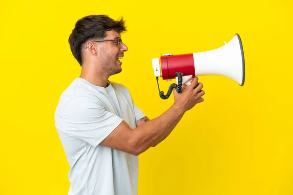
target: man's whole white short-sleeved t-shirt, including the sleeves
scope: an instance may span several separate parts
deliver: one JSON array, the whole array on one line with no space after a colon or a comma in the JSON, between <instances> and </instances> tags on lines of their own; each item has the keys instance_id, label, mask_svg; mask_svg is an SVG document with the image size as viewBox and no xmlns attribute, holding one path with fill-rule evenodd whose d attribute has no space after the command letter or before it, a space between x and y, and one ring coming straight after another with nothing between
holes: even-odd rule
<instances>
[{"instance_id":1,"label":"man's whole white short-sleeved t-shirt, including the sleeves","mask_svg":"<svg viewBox=\"0 0 293 195\"><path fill-rule=\"evenodd\" d=\"M55 125L70 165L68 195L137 195L138 156L99 145L121 122L136 128L146 115L127 88L76 78L63 92Z\"/></svg>"}]
</instances>

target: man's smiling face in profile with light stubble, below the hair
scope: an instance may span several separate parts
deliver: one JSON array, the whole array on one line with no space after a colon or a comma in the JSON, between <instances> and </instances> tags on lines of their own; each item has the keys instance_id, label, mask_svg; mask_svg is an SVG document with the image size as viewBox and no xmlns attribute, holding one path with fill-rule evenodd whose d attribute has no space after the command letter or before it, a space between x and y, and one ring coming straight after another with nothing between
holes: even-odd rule
<instances>
[{"instance_id":1,"label":"man's smiling face in profile with light stubble, below the hair","mask_svg":"<svg viewBox=\"0 0 293 195\"><path fill-rule=\"evenodd\" d=\"M121 38L120 34L116 31L107 31L105 39ZM117 40L103 41L98 43L99 48L99 64L102 65L103 70L108 73L109 76L118 74L122 71L122 62L124 52L128 50L126 44Z\"/></svg>"}]
</instances>

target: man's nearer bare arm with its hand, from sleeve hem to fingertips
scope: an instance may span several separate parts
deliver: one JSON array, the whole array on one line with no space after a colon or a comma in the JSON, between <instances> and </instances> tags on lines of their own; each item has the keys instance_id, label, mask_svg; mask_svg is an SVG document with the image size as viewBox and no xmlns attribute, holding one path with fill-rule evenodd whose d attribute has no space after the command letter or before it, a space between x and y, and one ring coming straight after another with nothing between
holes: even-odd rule
<instances>
[{"instance_id":1,"label":"man's nearer bare arm with its hand, from sleeve hem to fingertips","mask_svg":"<svg viewBox=\"0 0 293 195\"><path fill-rule=\"evenodd\" d=\"M135 129L131 129L125 121L122 121L101 142L101 145L133 155L139 155L155 146L172 132L186 111L203 102L204 99L201 98L205 94L201 90L203 85L197 82L197 78L196 81L194 80L190 87L182 90L180 94L173 90L175 102L161 116L142 122Z\"/></svg>"}]
</instances>

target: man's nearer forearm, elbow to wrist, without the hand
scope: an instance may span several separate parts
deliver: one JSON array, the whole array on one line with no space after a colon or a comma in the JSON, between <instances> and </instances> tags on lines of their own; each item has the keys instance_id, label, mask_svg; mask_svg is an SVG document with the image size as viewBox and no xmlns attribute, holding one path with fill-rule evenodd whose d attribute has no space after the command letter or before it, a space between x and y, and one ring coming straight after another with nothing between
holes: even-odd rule
<instances>
[{"instance_id":1,"label":"man's nearer forearm, elbow to wrist, without the hand","mask_svg":"<svg viewBox=\"0 0 293 195\"><path fill-rule=\"evenodd\" d=\"M161 116L147 121L133 131L132 144L137 153L143 153L166 138L176 127L185 111L173 104Z\"/></svg>"}]
</instances>

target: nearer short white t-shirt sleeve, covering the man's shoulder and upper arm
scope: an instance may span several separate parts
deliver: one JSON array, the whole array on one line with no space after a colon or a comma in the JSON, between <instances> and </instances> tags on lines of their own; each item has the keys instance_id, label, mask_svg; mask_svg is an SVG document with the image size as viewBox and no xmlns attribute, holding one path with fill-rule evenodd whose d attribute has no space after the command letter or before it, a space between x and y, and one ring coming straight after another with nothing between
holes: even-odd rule
<instances>
[{"instance_id":1,"label":"nearer short white t-shirt sleeve, covering the man's shoulder and upper arm","mask_svg":"<svg viewBox=\"0 0 293 195\"><path fill-rule=\"evenodd\" d=\"M96 147L123 121L103 103L89 97L73 98L61 113L62 131Z\"/></svg>"}]
</instances>

